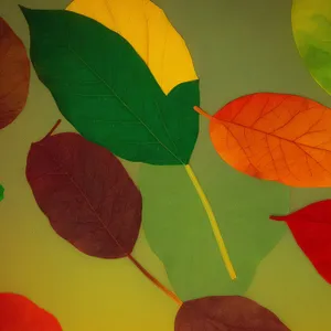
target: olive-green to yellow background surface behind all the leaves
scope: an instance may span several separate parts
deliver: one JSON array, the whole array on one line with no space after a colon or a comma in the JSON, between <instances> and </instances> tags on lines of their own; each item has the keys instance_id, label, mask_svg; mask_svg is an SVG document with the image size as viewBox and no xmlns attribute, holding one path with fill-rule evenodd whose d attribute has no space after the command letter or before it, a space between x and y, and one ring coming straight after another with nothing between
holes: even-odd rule
<instances>
[{"instance_id":1,"label":"olive-green to yellow background surface behind all the leaves","mask_svg":"<svg viewBox=\"0 0 331 331\"><path fill-rule=\"evenodd\" d=\"M297 94L331 106L330 96L311 78L297 52L289 0L154 2L166 11L188 44L201 79L202 107L210 114L254 92ZM26 7L54 9L67 3L20 1ZM29 45L29 30L17 1L2 0L0 14ZM0 164L0 182L6 188L0 205L0 290L29 296L58 317L65 331L172 330L177 307L129 263L117 260L105 265L81 255L58 241L38 207L30 209L33 197L24 179L25 157L31 141L39 140L58 117L51 95L32 74L26 108L15 124L0 132L0 150L6 160ZM205 150L213 153L205 119L201 119L201 128L192 167L199 178L206 173L204 180L212 181L206 164L224 169L227 166L221 160L213 164L204 162ZM63 124L61 130L72 130L72 127ZM271 190L278 184L264 185ZM227 194L220 190L217 186L207 192L215 204L217 197L222 200ZM328 189L291 189L290 194L284 189L284 201L289 201L291 210L331 196ZM253 194L248 189L245 193ZM275 201L275 207L278 203ZM164 270L143 235L135 255L167 284ZM110 277L117 277L121 284L110 282ZM331 329L331 287L316 273L289 231L259 265L247 296L270 308L292 331ZM107 298L115 303L107 302Z\"/></svg>"}]
</instances>

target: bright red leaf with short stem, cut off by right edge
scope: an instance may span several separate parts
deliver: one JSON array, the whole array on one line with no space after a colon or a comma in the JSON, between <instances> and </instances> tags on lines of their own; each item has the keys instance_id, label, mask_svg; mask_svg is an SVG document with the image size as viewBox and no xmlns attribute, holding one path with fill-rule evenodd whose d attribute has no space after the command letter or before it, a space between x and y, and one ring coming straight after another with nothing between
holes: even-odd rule
<instances>
[{"instance_id":1,"label":"bright red leaf with short stem, cut off by right edge","mask_svg":"<svg viewBox=\"0 0 331 331\"><path fill-rule=\"evenodd\" d=\"M331 200L312 203L286 216L270 216L285 221L297 244L318 273L331 284Z\"/></svg>"}]
</instances>

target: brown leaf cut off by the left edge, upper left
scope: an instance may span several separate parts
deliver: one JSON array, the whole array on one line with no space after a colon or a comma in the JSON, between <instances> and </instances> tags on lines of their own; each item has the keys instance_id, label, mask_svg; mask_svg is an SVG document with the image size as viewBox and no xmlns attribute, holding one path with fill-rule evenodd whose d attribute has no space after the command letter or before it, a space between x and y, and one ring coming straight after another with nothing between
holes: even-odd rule
<instances>
[{"instance_id":1,"label":"brown leaf cut off by the left edge, upper left","mask_svg":"<svg viewBox=\"0 0 331 331\"><path fill-rule=\"evenodd\" d=\"M0 129L22 111L29 94L30 62L25 47L0 18Z\"/></svg>"}]
</instances>

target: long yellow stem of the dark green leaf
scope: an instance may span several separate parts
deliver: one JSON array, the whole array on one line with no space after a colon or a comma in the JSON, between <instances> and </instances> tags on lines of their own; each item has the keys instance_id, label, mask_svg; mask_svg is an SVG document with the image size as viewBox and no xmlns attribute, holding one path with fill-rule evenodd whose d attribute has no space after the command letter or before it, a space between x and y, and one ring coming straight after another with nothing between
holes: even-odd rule
<instances>
[{"instance_id":1,"label":"long yellow stem of the dark green leaf","mask_svg":"<svg viewBox=\"0 0 331 331\"><path fill-rule=\"evenodd\" d=\"M200 111L199 111L200 113ZM227 253L227 249L226 249L226 246L225 246L225 243L224 243L224 239L223 239L223 236L221 234L221 231L220 231L220 227L218 227L218 224L216 222L216 217L215 217L215 214L212 210L212 206L206 197L206 195L204 194L203 192L203 189L202 186L200 185L199 181L197 181L197 178L196 175L194 174L192 168L190 164L185 164L185 170L196 190L196 193L199 194L200 196L200 200L205 209L205 212L209 216L209 220L210 220L210 224L212 226L212 229L213 229L213 233L214 233L214 236L216 238L216 242L217 242L217 246L220 248L220 252L221 252L221 256L223 258L223 261L225 264L225 267L226 267L226 270L229 275L229 278L232 280L236 279L237 276L236 276L236 273L235 273L235 269L233 267L233 264L229 259L229 256L228 256L228 253Z\"/></svg>"}]
</instances>

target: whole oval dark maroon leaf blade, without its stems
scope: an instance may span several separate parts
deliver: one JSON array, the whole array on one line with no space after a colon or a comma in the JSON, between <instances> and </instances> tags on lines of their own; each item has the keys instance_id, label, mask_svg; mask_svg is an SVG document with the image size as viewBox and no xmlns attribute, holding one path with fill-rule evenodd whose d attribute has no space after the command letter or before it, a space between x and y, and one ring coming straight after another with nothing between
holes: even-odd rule
<instances>
[{"instance_id":1,"label":"whole oval dark maroon leaf blade, without its stems","mask_svg":"<svg viewBox=\"0 0 331 331\"><path fill-rule=\"evenodd\" d=\"M77 134L33 143L26 179L55 232L81 252L128 256L141 223L141 194L121 163Z\"/></svg>"}]
</instances>

